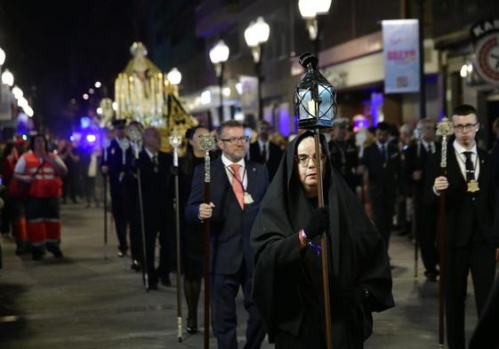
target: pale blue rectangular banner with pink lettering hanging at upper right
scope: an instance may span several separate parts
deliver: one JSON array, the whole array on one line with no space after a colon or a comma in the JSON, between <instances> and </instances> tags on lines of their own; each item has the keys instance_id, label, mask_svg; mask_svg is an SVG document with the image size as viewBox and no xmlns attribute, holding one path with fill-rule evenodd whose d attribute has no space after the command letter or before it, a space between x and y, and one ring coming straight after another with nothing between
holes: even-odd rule
<instances>
[{"instance_id":1,"label":"pale blue rectangular banner with pink lettering hanging at upper right","mask_svg":"<svg viewBox=\"0 0 499 349\"><path fill-rule=\"evenodd\" d=\"M382 20L384 92L419 92L419 21Z\"/></svg>"}]
</instances>

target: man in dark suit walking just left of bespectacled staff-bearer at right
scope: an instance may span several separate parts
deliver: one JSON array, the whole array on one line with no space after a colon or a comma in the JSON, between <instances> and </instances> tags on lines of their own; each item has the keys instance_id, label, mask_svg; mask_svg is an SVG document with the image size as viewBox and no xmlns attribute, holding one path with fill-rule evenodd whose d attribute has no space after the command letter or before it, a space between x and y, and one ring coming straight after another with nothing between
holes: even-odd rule
<instances>
[{"instance_id":1,"label":"man in dark suit walking just left of bespectacled staff-bearer at right","mask_svg":"<svg viewBox=\"0 0 499 349\"><path fill-rule=\"evenodd\" d=\"M438 253L435 245L437 232L437 207L423 202L423 185L427 175L427 162L430 155L440 153L439 144L435 142L435 122L422 119L417 124L420 139L404 151L406 155L406 182L413 198L413 230L414 237L421 246L421 257L426 271L424 275L430 281L436 281Z\"/></svg>"}]
</instances>

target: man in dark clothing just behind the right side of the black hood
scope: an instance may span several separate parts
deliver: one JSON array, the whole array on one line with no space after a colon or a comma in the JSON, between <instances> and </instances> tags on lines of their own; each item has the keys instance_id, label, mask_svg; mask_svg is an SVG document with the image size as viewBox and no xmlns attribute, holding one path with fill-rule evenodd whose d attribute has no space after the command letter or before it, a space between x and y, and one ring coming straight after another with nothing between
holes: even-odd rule
<instances>
[{"instance_id":1,"label":"man in dark clothing just behind the right side of the black hood","mask_svg":"<svg viewBox=\"0 0 499 349\"><path fill-rule=\"evenodd\" d=\"M358 167L358 149L355 146L355 139L347 139L346 119L339 119L334 122L334 135L328 143L329 154L333 167L340 171L342 178L345 179L350 189L356 193L357 186L360 184Z\"/></svg>"}]
</instances>

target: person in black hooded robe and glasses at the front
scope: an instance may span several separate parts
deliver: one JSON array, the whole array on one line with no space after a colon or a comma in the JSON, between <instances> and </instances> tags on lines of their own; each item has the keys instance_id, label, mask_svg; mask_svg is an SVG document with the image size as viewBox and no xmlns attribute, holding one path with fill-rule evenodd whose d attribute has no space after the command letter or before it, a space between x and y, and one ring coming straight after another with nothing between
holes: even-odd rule
<instances>
[{"instance_id":1,"label":"person in black hooded robe and glasses at the front","mask_svg":"<svg viewBox=\"0 0 499 349\"><path fill-rule=\"evenodd\" d=\"M308 131L286 149L251 234L254 301L276 348L326 348L320 234L326 231L333 346L363 348L372 312L394 306L389 258L358 198L334 171L321 136L324 208ZM309 240L310 239L310 240Z\"/></svg>"}]
</instances>

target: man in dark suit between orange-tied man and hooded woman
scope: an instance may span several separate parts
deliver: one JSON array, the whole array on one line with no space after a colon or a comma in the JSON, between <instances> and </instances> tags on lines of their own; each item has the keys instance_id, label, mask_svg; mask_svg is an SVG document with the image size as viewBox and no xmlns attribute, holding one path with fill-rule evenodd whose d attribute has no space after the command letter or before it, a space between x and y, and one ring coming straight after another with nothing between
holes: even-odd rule
<instances>
[{"instance_id":1,"label":"man in dark suit between orange-tied man and hooded woman","mask_svg":"<svg viewBox=\"0 0 499 349\"><path fill-rule=\"evenodd\" d=\"M283 155L280 147L270 142L272 126L269 122L262 120L258 123L258 139L250 145L249 160L255 163L263 163L269 169L270 180L274 178Z\"/></svg>"}]
</instances>

